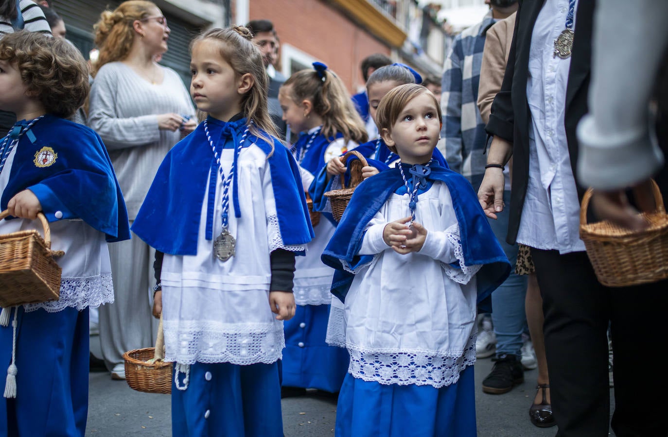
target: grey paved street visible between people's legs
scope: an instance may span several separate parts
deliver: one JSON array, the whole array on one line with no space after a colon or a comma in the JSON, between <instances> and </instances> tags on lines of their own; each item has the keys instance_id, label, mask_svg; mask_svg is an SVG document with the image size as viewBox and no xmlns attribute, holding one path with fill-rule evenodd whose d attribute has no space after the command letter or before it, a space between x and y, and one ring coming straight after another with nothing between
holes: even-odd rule
<instances>
[{"instance_id":1,"label":"grey paved street visible between people's legs","mask_svg":"<svg viewBox=\"0 0 668 437\"><path fill-rule=\"evenodd\" d=\"M480 382L492 368L489 358L476 368L476 414L480 437L554 436L556 428L536 428L528 408L534 396L536 370L524 374L524 384L502 395L484 394ZM316 392L283 400L285 436L333 436L336 401ZM170 436L170 396L135 392L109 374L90 374L87 436Z\"/></svg>"}]
</instances>

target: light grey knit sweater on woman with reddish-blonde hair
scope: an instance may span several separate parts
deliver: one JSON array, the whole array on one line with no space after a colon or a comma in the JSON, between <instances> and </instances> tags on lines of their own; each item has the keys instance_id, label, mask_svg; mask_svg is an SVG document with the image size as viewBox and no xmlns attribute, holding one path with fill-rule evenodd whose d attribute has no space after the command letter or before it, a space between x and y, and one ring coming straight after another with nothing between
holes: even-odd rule
<instances>
[{"instance_id":1,"label":"light grey knit sweater on woman with reddish-blonde hair","mask_svg":"<svg viewBox=\"0 0 668 437\"><path fill-rule=\"evenodd\" d=\"M104 141L114 164L130 220L180 132L158 129L158 114L194 116L195 109L176 72L162 67L164 80L152 85L128 65L103 65L93 81L88 125Z\"/></svg>"}]
</instances>

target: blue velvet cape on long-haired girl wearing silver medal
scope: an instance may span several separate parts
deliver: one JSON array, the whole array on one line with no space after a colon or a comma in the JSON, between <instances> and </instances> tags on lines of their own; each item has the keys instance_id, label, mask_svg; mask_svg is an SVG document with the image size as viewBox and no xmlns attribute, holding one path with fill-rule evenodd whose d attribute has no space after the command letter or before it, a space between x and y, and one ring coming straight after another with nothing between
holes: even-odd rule
<instances>
[{"instance_id":1,"label":"blue velvet cape on long-haired girl wearing silver medal","mask_svg":"<svg viewBox=\"0 0 668 437\"><path fill-rule=\"evenodd\" d=\"M246 119L243 118L225 123L209 117L208 124L214 144L220 141L226 143L230 138L236 144L246 129ZM246 144L255 143L267 153L283 243L288 246L307 244L313 238L313 228L295 159L277 139L274 141L271 156L269 154L272 145L264 139L248 135L245 141ZM236 157L235 153L235 160ZM212 172L217 172L218 165L206 139L204 123L200 123L190 135L169 151L160 164L146 199L132 224L132 231L160 252L171 255L196 255L200 215L206 193L202 188L211 187L207 179L213 179L215 193L216 175L215 173L210 175L210 169ZM243 217L240 217L238 202L244 193L238 193L237 185L234 177L230 187L232 199L229 212L234 213L239 220L243 220ZM214 196L210 194L209 199L214 199ZM212 221L219 220L219 217L214 217L213 202L214 200L210 200L207 205L207 240L212 238L210 233Z\"/></svg>"}]
</instances>

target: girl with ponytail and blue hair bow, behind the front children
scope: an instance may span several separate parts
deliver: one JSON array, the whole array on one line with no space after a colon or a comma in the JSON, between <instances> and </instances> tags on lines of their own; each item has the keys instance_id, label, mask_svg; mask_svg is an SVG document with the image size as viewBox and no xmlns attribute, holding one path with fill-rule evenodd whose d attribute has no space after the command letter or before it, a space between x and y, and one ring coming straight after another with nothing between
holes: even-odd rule
<instances>
[{"instance_id":1,"label":"girl with ponytail and blue hair bow, behind the front children","mask_svg":"<svg viewBox=\"0 0 668 437\"><path fill-rule=\"evenodd\" d=\"M283 119L293 131L302 132L295 156L305 175L304 191L329 159L367 139L359 114L345 85L323 63L297 71L279 91ZM283 355L284 394L303 394L306 388L338 392L345 376L345 350L325 343L331 294L331 268L320 260L334 232L331 214L315 226L315 238L295 271L295 318L285 324Z\"/></svg>"}]
</instances>

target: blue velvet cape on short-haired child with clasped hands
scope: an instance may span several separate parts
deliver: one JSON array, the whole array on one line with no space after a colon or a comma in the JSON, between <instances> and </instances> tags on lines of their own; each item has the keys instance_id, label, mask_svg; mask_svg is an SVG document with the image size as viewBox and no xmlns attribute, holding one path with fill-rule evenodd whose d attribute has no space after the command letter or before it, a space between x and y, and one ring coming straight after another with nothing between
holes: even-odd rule
<instances>
[{"instance_id":1,"label":"blue velvet cape on short-haired child with clasped hands","mask_svg":"<svg viewBox=\"0 0 668 437\"><path fill-rule=\"evenodd\" d=\"M476 274L478 307L482 311L491 312L490 294L508 278L510 262L499 246L480 207L478 197L466 178L437 164L432 164L430 168L432 171L427 177L428 181L442 181L450 190L460 227L460 240L466 265L483 265ZM373 256L357 255L366 232L365 228L369 220L401 185L403 179L398 168L382 171L360 183L341 217L339 226L327 244L322 260L327 266L335 269L331 292L342 302L354 275L343 270L341 262L345 262L351 270L371 262ZM459 264L453 266L458 267Z\"/></svg>"}]
</instances>

